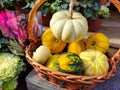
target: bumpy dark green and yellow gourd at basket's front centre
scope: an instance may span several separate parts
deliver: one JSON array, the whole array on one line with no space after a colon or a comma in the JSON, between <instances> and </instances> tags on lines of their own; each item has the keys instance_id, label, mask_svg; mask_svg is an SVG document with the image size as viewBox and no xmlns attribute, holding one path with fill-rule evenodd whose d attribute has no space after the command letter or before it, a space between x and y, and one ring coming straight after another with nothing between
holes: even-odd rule
<instances>
[{"instance_id":1,"label":"bumpy dark green and yellow gourd at basket's front centre","mask_svg":"<svg viewBox=\"0 0 120 90\"><path fill-rule=\"evenodd\" d=\"M81 74L82 72L82 60L79 55L72 52L65 52L58 58L58 71L70 73L70 74Z\"/></svg>"}]
</instances>

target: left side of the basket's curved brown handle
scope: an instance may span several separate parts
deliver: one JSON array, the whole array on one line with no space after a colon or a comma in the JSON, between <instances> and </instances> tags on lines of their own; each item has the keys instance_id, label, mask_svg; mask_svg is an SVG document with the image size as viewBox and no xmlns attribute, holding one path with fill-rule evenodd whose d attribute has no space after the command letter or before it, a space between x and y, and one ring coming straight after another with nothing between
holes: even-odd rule
<instances>
[{"instance_id":1,"label":"left side of the basket's curved brown handle","mask_svg":"<svg viewBox=\"0 0 120 90\"><path fill-rule=\"evenodd\" d=\"M30 42L37 42L37 38L34 36L33 33L33 21L35 14L38 10L38 8L45 2L45 0L37 0L33 8L31 9L29 16L28 16L28 39Z\"/></svg>"}]
</instances>

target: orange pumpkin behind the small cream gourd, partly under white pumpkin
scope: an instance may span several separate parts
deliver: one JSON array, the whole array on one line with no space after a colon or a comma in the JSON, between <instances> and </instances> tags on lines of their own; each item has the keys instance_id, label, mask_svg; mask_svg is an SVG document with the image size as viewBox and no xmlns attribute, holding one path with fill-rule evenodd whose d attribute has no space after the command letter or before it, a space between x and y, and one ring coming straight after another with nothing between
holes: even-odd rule
<instances>
[{"instance_id":1,"label":"orange pumpkin behind the small cream gourd, partly under white pumpkin","mask_svg":"<svg viewBox=\"0 0 120 90\"><path fill-rule=\"evenodd\" d=\"M54 37L50 28L48 28L42 35L42 44L47 46L51 53L62 52L66 46L66 42L58 40Z\"/></svg>"}]
</instances>

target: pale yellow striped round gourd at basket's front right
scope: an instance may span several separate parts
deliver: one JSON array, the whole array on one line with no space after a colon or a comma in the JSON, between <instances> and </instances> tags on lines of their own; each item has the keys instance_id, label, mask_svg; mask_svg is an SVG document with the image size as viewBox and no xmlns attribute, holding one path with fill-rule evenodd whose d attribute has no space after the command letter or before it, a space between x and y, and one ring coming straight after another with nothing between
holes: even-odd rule
<instances>
[{"instance_id":1,"label":"pale yellow striped round gourd at basket's front right","mask_svg":"<svg viewBox=\"0 0 120 90\"><path fill-rule=\"evenodd\" d=\"M99 76L108 72L108 58L99 50L87 49L81 52L79 56L83 62L83 72L85 75Z\"/></svg>"}]
</instances>

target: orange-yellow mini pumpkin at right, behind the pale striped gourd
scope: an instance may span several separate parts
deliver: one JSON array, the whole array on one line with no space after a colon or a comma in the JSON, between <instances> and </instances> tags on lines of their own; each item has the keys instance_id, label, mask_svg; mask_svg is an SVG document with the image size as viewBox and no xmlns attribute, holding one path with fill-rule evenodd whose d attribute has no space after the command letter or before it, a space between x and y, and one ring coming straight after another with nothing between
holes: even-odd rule
<instances>
[{"instance_id":1,"label":"orange-yellow mini pumpkin at right, behind the pale striped gourd","mask_svg":"<svg viewBox=\"0 0 120 90\"><path fill-rule=\"evenodd\" d=\"M87 38L86 49L96 49L106 53L109 49L109 38L103 33L94 33Z\"/></svg>"}]
</instances>

